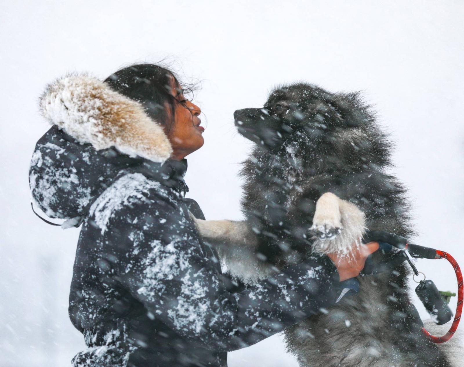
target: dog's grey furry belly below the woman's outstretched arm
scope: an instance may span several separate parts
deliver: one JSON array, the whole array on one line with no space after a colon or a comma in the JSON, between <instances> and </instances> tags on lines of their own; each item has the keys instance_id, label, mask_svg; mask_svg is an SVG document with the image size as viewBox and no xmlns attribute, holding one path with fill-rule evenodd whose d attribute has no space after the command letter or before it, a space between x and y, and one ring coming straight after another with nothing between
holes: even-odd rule
<instances>
[{"instance_id":1,"label":"dog's grey furry belly below the woman's outstretched arm","mask_svg":"<svg viewBox=\"0 0 464 367\"><path fill-rule=\"evenodd\" d=\"M371 278L360 281L361 290L356 296L345 297L329 313L312 316L285 330L287 348L296 354L301 366L403 365L405 361L394 345L396 333L379 317L388 312L383 282L375 283Z\"/></svg>"}]
</instances>

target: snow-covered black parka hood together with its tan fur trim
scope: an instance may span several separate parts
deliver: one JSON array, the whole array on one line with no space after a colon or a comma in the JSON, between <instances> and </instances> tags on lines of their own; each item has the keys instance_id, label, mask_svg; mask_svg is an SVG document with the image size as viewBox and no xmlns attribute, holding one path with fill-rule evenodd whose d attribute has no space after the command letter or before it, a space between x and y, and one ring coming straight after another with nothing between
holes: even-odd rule
<instances>
[{"instance_id":1,"label":"snow-covered black parka hood together with its tan fur trim","mask_svg":"<svg viewBox=\"0 0 464 367\"><path fill-rule=\"evenodd\" d=\"M40 97L40 108L53 126L37 142L29 183L36 204L51 218L87 215L121 171L174 178L169 187L185 172L169 160L168 137L142 105L94 77L57 79Z\"/></svg>"}]
</instances>

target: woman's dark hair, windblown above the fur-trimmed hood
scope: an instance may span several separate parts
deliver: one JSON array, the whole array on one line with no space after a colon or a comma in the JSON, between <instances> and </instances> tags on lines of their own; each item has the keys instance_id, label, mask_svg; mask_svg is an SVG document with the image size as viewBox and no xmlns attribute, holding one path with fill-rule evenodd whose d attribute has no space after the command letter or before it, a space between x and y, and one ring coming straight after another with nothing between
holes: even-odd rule
<instances>
[{"instance_id":1,"label":"woman's dark hair, windblown above the fur-trimmed hood","mask_svg":"<svg viewBox=\"0 0 464 367\"><path fill-rule=\"evenodd\" d=\"M181 103L171 94L173 78L174 83L184 89L173 71L156 64L135 64L116 71L104 82L112 90L141 103L148 116L169 134L174 128L174 107Z\"/></svg>"}]
</instances>

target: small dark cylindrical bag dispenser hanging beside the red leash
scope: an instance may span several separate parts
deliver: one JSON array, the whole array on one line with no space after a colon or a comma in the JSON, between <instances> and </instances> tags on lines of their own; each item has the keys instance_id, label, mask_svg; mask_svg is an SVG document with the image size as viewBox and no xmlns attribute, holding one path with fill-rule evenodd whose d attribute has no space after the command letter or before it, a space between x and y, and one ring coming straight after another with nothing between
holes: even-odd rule
<instances>
[{"instance_id":1,"label":"small dark cylindrical bag dispenser hanging beside the red leash","mask_svg":"<svg viewBox=\"0 0 464 367\"><path fill-rule=\"evenodd\" d=\"M431 280L420 281L416 287L416 293L436 324L443 325L451 320L453 313L448 303L442 298L435 283Z\"/></svg>"}]
</instances>

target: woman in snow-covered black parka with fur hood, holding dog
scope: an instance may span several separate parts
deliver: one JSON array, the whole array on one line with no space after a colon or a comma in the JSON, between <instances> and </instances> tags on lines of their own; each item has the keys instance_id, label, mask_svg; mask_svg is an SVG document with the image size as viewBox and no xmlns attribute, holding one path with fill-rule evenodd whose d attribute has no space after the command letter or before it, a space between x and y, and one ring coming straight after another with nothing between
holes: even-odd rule
<instances>
[{"instance_id":1,"label":"woman in snow-covered black parka with fur hood, holding dog","mask_svg":"<svg viewBox=\"0 0 464 367\"><path fill-rule=\"evenodd\" d=\"M173 72L140 64L103 83L63 77L41 108L53 126L32 157L33 197L65 226L83 222L69 314L88 348L74 366L226 366L227 351L334 303L340 278L378 247L350 264L311 258L232 293L189 217L203 218L200 208L182 195L184 158L204 129Z\"/></svg>"}]
</instances>

